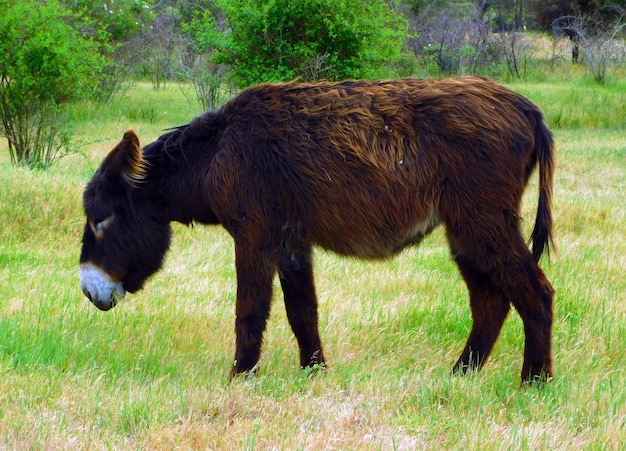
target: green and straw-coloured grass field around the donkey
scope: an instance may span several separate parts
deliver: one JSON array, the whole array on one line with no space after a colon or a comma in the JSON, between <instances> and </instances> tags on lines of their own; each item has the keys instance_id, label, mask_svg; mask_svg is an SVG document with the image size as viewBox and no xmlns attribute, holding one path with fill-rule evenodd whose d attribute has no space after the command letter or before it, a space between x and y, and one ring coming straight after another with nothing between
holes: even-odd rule
<instances>
[{"instance_id":1,"label":"green and straw-coloured grass field around the donkey","mask_svg":"<svg viewBox=\"0 0 626 451\"><path fill-rule=\"evenodd\" d=\"M316 252L330 370L297 369L276 285L257 378L228 382L233 246L175 226L164 269L111 312L78 285L81 194L126 128L147 143L197 114L176 88L73 113L80 152L13 168L0 142L0 449L625 449L626 83L516 83L558 144L555 378L519 387L507 319L479 374L452 377L471 321L436 232L388 262ZM524 225L536 205L527 192Z\"/></svg>"}]
</instances>

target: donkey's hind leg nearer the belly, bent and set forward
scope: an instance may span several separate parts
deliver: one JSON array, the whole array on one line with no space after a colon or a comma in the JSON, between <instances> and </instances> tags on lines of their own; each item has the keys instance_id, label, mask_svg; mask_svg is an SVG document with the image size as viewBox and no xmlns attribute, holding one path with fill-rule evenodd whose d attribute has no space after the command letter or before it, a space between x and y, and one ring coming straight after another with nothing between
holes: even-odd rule
<instances>
[{"instance_id":1,"label":"donkey's hind leg nearer the belly, bent and set forward","mask_svg":"<svg viewBox=\"0 0 626 451\"><path fill-rule=\"evenodd\" d=\"M510 304L488 274L483 273L463 254L455 253L454 259L469 289L472 309L472 331L452 369L455 374L465 374L468 370L480 369L489 357L509 313Z\"/></svg>"}]
</instances>

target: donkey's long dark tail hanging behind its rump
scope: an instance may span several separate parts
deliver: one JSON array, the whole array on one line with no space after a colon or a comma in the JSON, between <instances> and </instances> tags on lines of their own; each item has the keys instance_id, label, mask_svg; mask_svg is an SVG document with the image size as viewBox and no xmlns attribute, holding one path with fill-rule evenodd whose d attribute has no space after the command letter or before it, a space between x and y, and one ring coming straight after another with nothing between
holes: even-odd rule
<instances>
[{"instance_id":1,"label":"donkey's long dark tail hanging behind its rump","mask_svg":"<svg viewBox=\"0 0 626 451\"><path fill-rule=\"evenodd\" d=\"M539 163L539 203L535 227L530 235L533 258L539 262L545 251L555 248L552 236L552 180L554 176L554 141L541 117L535 126L535 154Z\"/></svg>"}]
</instances>

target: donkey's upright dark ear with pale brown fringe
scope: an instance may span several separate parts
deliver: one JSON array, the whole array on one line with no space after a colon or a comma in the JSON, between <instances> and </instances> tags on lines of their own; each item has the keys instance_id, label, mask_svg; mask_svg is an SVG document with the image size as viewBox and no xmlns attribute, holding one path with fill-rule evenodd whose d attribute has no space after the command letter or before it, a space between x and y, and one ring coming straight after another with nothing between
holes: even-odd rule
<instances>
[{"instance_id":1,"label":"donkey's upright dark ear with pale brown fringe","mask_svg":"<svg viewBox=\"0 0 626 451\"><path fill-rule=\"evenodd\" d=\"M120 175L131 187L141 184L145 178L146 161L139 145L139 138L133 130L124 133L120 143L109 153L103 166Z\"/></svg>"}]
</instances>

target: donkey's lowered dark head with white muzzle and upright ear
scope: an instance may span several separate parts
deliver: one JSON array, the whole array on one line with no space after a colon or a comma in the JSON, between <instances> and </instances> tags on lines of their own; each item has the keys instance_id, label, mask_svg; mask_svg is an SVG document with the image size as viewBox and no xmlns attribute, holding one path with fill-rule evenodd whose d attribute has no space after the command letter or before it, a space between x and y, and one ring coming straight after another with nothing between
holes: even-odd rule
<instances>
[{"instance_id":1,"label":"donkey's lowered dark head with white muzzle and upright ear","mask_svg":"<svg viewBox=\"0 0 626 451\"><path fill-rule=\"evenodd\" d=\"M80 285L101 310L126 291L141 289L156 272L170 243L158 186L147 181L148 164L133 131L104 159L83 194L87 224L80 255Z\"/></svg>"}]
</instances>

